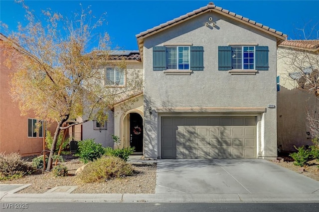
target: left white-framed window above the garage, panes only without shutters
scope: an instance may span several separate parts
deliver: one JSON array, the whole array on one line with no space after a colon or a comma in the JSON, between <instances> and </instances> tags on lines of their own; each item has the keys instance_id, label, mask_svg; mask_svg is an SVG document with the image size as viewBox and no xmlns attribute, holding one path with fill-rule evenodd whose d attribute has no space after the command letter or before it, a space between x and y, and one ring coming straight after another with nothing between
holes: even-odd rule
<instances>
[{"instance_id":1,"label":"left white-framed window above the garage, panes only without shutters","mask_svg":"<svg viewBox=\"0 0 319 212\"><path fill-rule=\"evenodd\" d=\"M167 69L189 70L189 46L166 47Z\"/></svg>"}]
</instances>

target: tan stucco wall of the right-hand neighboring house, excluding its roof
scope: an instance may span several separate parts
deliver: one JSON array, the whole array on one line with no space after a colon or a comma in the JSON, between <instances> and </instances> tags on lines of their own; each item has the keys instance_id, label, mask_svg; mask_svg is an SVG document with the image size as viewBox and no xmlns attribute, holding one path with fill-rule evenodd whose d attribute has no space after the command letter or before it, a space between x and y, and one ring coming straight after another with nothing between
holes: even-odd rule
<instances>
[{"instance_id":1,"label":"tan stucco wall of the right-hand neighboring house, excluding its roof","mask_svg":"<svg viewBox=\"0 0 319 212\"><path fill-rule=\"evenodd\" d=\"M312 145L307 135L307 111L318 107L316 95L297 88L297 82L289 73L296 70L289 65L286 54L296 54L293 49L278 48L277 73L280 76L280 91L277 97L278 147L283 151L295 151L296 147Z\"/></svg>"}]
</instances>

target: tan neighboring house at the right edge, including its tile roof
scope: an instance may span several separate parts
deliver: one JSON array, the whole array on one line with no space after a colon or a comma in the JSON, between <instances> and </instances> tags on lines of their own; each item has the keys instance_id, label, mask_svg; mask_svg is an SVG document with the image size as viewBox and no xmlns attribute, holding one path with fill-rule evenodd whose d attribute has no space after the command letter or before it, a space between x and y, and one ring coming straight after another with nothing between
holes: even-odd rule
<instances>
[{"instance_id":1,"label":"tan neighboring house at the right edge, including its tile roof","mask_svg":"<svg viewBox=\"0 0 319 212\"><path fill-rule=\"evenodd\" d=\"M305 81L303 74L313 74L309 67L319 65L319 40L286 40L279 45L277 54L278 148L296 151L294 146L312 145L307 113L318 108L318 97L298 87ZM311 57L317 57L317 62L310 59L310 64ZM313 67L317 71L318 68Z\"/></svg>"}]
</instances>

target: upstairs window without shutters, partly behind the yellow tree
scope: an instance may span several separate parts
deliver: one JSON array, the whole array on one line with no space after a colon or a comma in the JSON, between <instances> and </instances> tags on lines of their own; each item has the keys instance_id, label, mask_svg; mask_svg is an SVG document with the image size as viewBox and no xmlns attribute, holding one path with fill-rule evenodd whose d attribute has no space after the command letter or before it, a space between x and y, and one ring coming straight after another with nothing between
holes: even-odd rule
<instances>
[{"instance_id":1,"label":"upstairs window without shutters, partly behind the yellow tree","mask_svg":"<svg viewBox=\"0 0 319 212\"><path fill-rule=\"evenodd\" d=\"M124 85L125 71L117 66L105 68L106 85Z\"/></svg>"}]
</instances>

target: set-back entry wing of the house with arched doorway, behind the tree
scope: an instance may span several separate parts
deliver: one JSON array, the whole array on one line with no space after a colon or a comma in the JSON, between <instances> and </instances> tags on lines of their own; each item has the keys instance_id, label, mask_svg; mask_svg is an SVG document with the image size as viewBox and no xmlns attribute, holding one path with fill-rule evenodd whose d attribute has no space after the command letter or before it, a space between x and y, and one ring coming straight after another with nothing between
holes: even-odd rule
<instances>
[{"instance_id":1,"label":"set-back entry wing of the house with arched doorway, behind the tree","mask_svg":"<svg viewBox=\"0 0 319 212\"><path fill-rule=\"evenodd\" d=\"M139 51L111 51L110 65L104 67L106 85L114 89L126 89L134 80L143 76L143 64ZM125 61L126 70L120 70L117 63ZM142 82L142 78L141 78ZM134 83L133 83L134 84ZM143 85L141 84L141 87ZM121 95L120 95L121 96ZM130 96L127 98L127 96ZM103 146L114 147L112 134L119 136L121 143L117 148L135 147L137 154L143 154L143 96L142 91L134 95L123 95L116 100L113 110L108 111L108 121L83 123L82 138L95 139ZM141 129L136 135L133 129Z\"/></svg>"}]
</instances>

